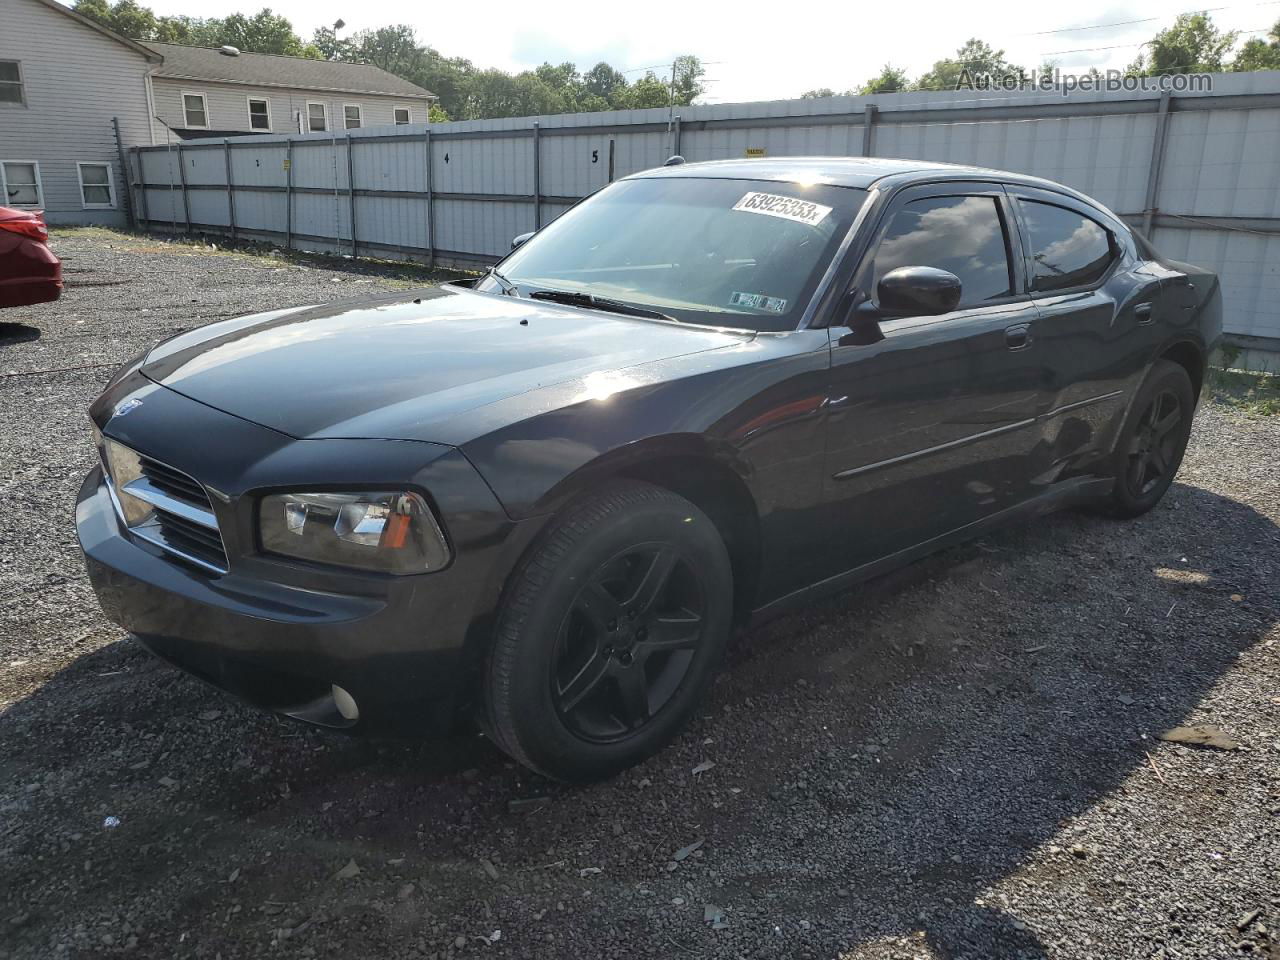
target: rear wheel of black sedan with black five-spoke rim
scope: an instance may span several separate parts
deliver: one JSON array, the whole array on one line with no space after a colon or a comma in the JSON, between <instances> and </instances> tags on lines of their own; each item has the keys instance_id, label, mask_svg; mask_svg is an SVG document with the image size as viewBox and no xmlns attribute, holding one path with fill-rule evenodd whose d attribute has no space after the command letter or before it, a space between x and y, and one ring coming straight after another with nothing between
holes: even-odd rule
<instances>
[{"instance_id":1,"label":"rear wheel of black sedan with black five-spoke rim","mask_svg":"<svg viewBox=\"0 0 1280 960\"><path fill-rule=\"evenodd\" d=\"M1111 513L1138 517L1165 495L1187 452L1196 394L1187 370L1157 360L1129 408L1112 454Z\"/></svg>"}]
</instances>

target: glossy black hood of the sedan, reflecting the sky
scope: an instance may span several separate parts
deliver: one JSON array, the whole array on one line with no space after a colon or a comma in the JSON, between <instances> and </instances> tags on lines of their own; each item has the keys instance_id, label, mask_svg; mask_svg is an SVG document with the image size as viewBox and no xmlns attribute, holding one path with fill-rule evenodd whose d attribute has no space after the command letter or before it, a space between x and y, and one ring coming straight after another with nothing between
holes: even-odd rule
<instances>
[{"instance_id":1,"label":"glossy black hood of the sedan, reflecting the sky","mask_svg":"<svg viewBox=\"0 0 1280 960\"><path fill-rule=\"evenodd\" d=\"M445 417L749 337L436 287L210 324L142 372L291 436L434 440Z\"/></svg>"}]
</instances>

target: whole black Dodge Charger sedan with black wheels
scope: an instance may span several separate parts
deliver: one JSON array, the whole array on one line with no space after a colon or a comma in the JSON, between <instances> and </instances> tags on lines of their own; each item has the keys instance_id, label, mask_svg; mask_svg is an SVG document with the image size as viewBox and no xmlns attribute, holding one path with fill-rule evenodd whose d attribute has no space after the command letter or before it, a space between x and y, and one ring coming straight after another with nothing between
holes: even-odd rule
<instances>
[{"instance_id":1,"label":"whole black Dodge Charger sedan with black wheels","mask_svg":"<svg viewBox=\"0 0 1280 960\"><path fill-rule=\"evenodd\" d=\"M731 631L1075 503L1151 509L1217 278L1046 180L668 164L476 280L174 337L91 408L104 609L352 732L474 716L581 781L654 753Z\"/></svg>"}]
</instances>

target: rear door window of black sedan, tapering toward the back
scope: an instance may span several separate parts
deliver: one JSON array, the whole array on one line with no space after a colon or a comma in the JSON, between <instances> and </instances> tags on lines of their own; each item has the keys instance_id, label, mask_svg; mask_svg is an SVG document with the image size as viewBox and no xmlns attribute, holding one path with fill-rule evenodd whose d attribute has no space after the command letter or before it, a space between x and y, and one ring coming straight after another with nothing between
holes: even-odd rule
<instances>
[{"instance_id":1,"label":"rear door window of black sedan, tapering toward the back","mask_svg":"<svg viewBox=\"0 0 1280 960\"><path fill-rule=\"evenodd\" d=\"M1034 200L1018 201L1032 246L1032 291L1091 287L1115 259L1111 234L1084 214Z\"/></svg>"}]
</instances>

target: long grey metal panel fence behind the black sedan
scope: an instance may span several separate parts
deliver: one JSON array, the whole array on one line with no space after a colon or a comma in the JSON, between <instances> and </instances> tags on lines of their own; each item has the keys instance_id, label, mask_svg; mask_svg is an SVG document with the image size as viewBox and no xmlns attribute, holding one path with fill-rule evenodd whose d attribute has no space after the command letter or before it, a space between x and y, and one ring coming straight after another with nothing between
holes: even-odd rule
<instances>
[{"instance_id":1,"label":"long grey metal panel fence behind the black sedan","mask_svg":"<svg viewBox=\"0 0 1280 960\"><path fill-rule=\"evenodd\" d=\"M1219 270L1226 326L1280 351L1280 73L1211 92L922 92L196 140L132 151L150 229L474 268L611 179L740 156L899 156L1075 187Z\"/></svg>"}]
</instances>

